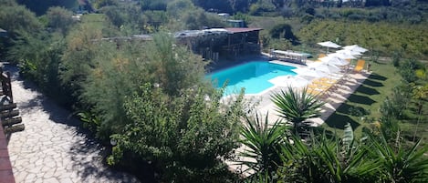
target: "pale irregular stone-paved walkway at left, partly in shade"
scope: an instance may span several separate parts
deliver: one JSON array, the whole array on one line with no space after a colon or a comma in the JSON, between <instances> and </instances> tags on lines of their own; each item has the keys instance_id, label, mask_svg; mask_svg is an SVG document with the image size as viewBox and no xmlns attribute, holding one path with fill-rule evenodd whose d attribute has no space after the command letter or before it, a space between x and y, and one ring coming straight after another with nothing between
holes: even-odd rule
<instances>
[{"instance_id":1,"label":"pale irregular stone-paved walkway at left, partly in shade","mask_svg":"<svg viewBox=\"0 0 428 183\"><path fill-rule=\"evenodd\" d=\"M16 182L139 182L102 164L102 149L79 131L78 120L12 71L14 100L26 129L8 149Z\"/></svg>"}]
</instances>

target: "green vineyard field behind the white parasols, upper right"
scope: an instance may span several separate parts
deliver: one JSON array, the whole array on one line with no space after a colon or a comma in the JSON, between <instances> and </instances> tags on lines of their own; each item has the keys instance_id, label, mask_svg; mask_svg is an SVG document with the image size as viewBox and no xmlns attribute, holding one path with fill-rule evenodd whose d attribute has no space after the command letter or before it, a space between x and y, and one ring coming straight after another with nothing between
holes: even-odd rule
<instances>
[{"instance_id":1,"label":"green vineyard field behind the white parasols, upper right","mask_svg":"<svg viewBox=\"0 0 428 183\"><path fill-rule=\"evenodd\" d=\"M428 56L428 48L423 46L428 43L425 29L426 25L319 20L303 27L297 35L305 44L334 40L339 45L367 47L371 52L383 56L399 52L405 56L425 59Z\"/></svg>"}]
</instances>

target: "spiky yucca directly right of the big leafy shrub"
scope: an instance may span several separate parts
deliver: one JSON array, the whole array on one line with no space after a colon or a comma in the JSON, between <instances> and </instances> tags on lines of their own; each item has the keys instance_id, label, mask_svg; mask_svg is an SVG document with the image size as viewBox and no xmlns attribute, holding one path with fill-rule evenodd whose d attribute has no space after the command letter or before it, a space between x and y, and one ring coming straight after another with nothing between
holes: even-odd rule
<instances>
[{"instance_id":1,"label":"spiky yucca directly right of the big leafy shrub","mask_svg":"<svg viewBox=\"0 0 428 183\"><path fill-rule=\"evenodd\" d=\"M255 170L257 173L268 173L277 170L282 165L280 149L285 141L287 127L277 120L269 124L267 116L265 120L256 115L256 118L246 117L246 124L241 129L244 157L239 163L249 167L247 170Z\"/></svg>"}]
</instances>

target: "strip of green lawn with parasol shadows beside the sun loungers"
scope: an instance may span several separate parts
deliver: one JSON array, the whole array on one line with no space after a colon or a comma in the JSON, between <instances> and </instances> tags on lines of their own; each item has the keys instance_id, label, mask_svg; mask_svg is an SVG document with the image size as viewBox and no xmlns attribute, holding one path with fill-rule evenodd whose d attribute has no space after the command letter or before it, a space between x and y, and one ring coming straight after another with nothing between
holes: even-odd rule
<instances>
[{"instance_id":1,"label":"strip of green lawn with parasol shadows beside the sun loungers","mask_svg":"<svg viewBox=\"0 0 428 183\"><path fill-rule=\"evenodd\" d=\"M350 123L356 133L360 134L362 127L370 126L361 119L361 114L365 118L381 117L379 107L391 95L392 88L401 82L401 76L386 61L373 63L371 70L371 76L327 119L323 127L340 133L344 125Z\"/></svg>"}]
</instances>

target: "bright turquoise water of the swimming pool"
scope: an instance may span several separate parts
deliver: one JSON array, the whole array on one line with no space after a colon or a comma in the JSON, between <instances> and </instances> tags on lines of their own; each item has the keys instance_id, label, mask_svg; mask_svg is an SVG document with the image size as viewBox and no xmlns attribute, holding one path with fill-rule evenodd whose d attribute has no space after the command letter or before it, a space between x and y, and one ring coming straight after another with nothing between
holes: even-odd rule
<instances>
[{"instance_id":1,"label":"bright turquoise water of the swimming pool","mask_svg":"<svg viewBox=\"0 0 428 183\"><path fill-rule=\"evenodd\" d=\"M225 94L239 93L242 87L245 87L245 94L258 94L267 88L274 86L268 80L277 76L297 75L291 71L294 66L282 66L271 64L266 61L252 61L243 65L230 67L208 75L220 88L228 81L225 88Z\"/></svg>"}]
</instances>

